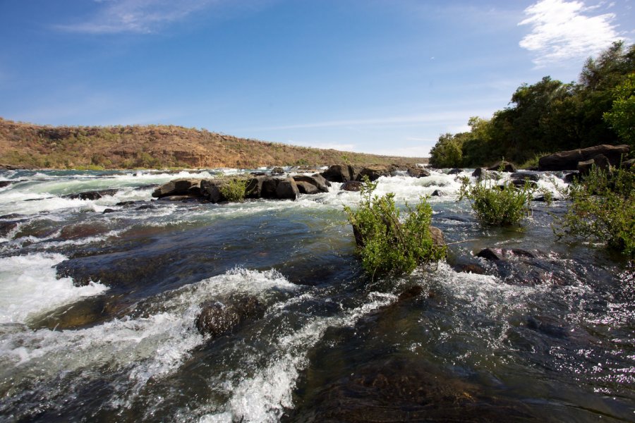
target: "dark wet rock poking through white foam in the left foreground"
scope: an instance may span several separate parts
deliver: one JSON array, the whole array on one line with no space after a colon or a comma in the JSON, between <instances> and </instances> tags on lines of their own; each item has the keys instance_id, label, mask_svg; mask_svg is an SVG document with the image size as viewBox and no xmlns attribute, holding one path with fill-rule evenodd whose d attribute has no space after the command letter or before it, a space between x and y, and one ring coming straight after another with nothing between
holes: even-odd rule
<instances>
[{"instance_id":1,"label":"dark wet rock poking through white foam in the left foreground","mask_svg":"<svg viewBox=\"0 0 635 423\"><path fill-rule=\"evenodd\" d=\"M241 298L229 304L205 302L194 324L202 335L216 337L230 333L247 319L259 319L263 312L264 307L255 297Z\"/></svg>"}]
</instances>

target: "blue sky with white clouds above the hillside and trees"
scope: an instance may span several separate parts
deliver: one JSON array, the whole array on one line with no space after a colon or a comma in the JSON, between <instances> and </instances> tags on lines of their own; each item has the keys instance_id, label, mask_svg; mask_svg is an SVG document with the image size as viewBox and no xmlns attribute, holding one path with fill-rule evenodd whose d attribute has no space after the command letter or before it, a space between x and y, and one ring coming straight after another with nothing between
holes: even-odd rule
<instances>
[{"instance_id":1,"label":"blue sky with white clouds above the hillside and trees","mask_svg":"<svg viewBox=\"0 0 635 423\"><path fill-rule=\"evenodd\" d=\"M635 0L0 0L0 117L426 157L571 82Z\"/></svg>"}]
</instances>

